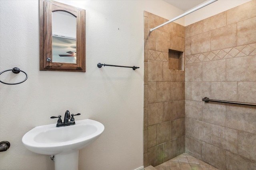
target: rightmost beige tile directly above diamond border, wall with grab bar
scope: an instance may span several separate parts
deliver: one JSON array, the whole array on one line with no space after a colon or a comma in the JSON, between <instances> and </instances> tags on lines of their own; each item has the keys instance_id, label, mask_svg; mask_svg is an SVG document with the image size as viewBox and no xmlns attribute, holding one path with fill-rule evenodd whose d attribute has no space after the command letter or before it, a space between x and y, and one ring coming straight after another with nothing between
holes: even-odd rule
<instances>
[{"instance_id":1,"label":"rightmost beige tile directly above diamond border, wall with grab bar","mask_svg":"<svg viewBox=\"0 0 256 170\"><path fill-rule=\"evenodd\" d=\"M255 7L256 9L256 7ZM254 9L254 10L255 10ZM237 23L237 45L256 43L256 17Z\"/></svg>"}]
</instances>

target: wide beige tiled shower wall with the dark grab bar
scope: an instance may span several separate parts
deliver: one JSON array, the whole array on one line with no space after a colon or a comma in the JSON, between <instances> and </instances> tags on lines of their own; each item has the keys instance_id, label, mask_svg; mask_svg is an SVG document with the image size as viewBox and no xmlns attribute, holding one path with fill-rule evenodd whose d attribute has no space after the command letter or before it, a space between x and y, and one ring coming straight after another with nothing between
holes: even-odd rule
<instances>
[{"instance_id":1,"label":"wide beige tiled shower wall with the dark grab bar","mask_svg":"<svg viewBox=\"0 0 256 170\"><path fill-rule=\"evenodd\" d=\"M256 170L256 0L186 26L185 152L220 170Z\"/></svg>"}]
</instances>

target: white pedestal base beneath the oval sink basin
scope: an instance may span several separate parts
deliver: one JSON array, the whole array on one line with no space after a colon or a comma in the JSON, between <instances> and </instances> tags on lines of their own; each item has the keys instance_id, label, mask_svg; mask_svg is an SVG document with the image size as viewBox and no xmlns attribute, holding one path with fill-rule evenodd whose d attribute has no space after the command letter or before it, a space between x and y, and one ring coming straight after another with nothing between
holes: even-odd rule
<instances>
[{"instance_id":1,"label":"white pedestal base beneath the oval sink basin","mask_svg":"<svg viewBox=\"0 0 256 170\"><path fill-rule=\"evenodd\" d=\"M78 170L79 150L68 154L54 155L55 170Z\"/></svg>"}]
</instances>

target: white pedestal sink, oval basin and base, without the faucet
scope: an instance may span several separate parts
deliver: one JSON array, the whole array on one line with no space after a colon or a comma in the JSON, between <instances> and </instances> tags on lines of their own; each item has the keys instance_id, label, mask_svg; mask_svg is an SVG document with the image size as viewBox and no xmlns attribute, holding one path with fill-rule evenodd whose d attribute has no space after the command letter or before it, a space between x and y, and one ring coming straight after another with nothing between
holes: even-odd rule
<instances>
[{"instance_id":1,"label":"white pedestal sink, oval basin and base, without the faucet","mask_svg":"<svg viewBox=\"0 0 256 170\"><path fill-rule=\"evenodd\" d=\"M28 131L22 143L32 152L54 154L55 170L78 170L79 149L98 139L103 131L104 125L91 119L65 127L43 125Z\"/></svg>"}]
</instances>

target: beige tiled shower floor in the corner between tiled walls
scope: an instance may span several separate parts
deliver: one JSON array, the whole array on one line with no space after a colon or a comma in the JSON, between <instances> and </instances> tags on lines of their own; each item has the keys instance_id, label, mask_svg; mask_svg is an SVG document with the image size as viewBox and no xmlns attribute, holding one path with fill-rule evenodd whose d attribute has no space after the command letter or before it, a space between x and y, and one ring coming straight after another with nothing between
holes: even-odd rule
<instances>
[{"instance_id":1,"label":"beige tiled shower floor in the corner between tiled walls","mask_svg":"<svg viewBox=\"0 0 256 170\"><path fill-rule=\"evenodd\" d=\"M155 168L156 170L218 170L187 153L180 154Z\"/></svg>"}]
</instances>

